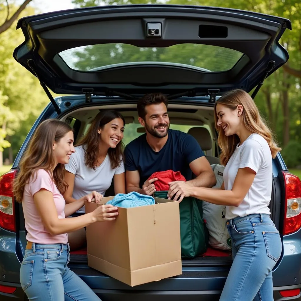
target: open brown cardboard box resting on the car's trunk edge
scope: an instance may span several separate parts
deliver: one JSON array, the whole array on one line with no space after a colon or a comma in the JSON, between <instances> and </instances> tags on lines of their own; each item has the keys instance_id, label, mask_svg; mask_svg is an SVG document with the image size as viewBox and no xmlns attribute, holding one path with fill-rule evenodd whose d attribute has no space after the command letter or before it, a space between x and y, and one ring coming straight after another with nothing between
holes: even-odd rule
<instances>
[{"instance_id":1,"label":"open brown cardboard box resting on the car's trunk edge","mask_svg":"<svg viewBox=\"0 0 301 301\"><path fill-rule=\"evenodd\" d=\"M155 205L119 207L116 220L86 227L88 266L132 287L182 274L179 203L154 199ZM87 202L85 212L100 205Z\"/></svg>"}]
</instances>

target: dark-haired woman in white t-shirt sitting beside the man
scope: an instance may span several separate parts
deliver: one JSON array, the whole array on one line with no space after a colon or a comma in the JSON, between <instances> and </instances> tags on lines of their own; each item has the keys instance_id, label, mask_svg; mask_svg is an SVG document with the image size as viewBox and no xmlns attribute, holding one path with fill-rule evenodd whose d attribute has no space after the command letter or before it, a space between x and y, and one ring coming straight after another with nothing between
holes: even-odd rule
<instances>
[{"instance_id":1,"label":"dark-haired woman in white t-shirt sitting beside the man","mask_svg":"<svg viewBox=\"0 0 301 301\"><path fill-rule=\"evenodd\" d=\"M77 143L76 152L65 165L64 193L66 203L72 203L89 191L95 190L103 197L113 180L114 193L126 193L123 163L123 131L125 120L116 110L102 110L94 118L88 132ZM80 208L73 216L85 213ZM68 233L72 250L85 244L85 229Z\"/></svg>"}]
</instances>

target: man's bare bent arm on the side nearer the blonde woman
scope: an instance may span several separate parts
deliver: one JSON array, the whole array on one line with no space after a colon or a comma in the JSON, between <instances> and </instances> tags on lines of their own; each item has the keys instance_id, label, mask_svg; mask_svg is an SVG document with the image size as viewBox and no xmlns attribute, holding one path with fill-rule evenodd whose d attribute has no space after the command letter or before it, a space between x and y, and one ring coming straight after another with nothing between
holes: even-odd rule
<instances>
[{"instance_id":1,"label":"man's bare bent arm on the side nearer the blonde woman","mask_svg":"<svg viewBox=\"0 0 301 301\"><path fill-rule=\"evenodd\" d=\"M188 184L195 187L213 187L216 185L216 177L205 156L193 160L189 167L197 177L187 181Z\"/></svg>"}]
</instances>

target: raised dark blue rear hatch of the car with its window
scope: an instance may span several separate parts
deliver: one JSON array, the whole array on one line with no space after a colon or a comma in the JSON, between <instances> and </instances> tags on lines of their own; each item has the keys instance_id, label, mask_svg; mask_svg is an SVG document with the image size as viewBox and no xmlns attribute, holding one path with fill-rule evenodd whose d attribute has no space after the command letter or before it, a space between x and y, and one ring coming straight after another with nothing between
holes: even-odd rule
<instances>
[{"instance_id":1,"label":"raised dark blue rear hatch of the car with its window","mask_svg":"<svg viewBox=\"0 0 301 301\"><path fill-rule=\"evenodd\" d=\"M14 58L58 94L250 92L288 60L289 20L187 5L112 5L19 20ZM56 107L57 109L57 107Z\"/></svg>"}]
</instances>

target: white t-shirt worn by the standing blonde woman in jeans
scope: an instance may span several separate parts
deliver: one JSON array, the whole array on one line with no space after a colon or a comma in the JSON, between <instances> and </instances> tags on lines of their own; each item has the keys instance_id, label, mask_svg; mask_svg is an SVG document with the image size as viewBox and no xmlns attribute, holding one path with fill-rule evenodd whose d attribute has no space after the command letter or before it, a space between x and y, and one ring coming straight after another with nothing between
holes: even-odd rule
<instances>
[{"instance_id":1,"label":"white t-shirt worn by the standing blonde woman in jeans","mask_svg":"<svg viewBox=\"0 0 301 301\"><path fill-rule=\"evenodd\" d=\"M254 181L242 203L226 206L226 219L254 213L271 214L268 205L272 195L272 154L268 142L259 134L251 134L237 146L225 166L225 190L231 190L239 168L249 167L256 172Z\"/></svg>"}]
</instances>

